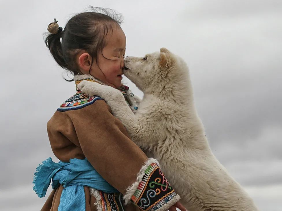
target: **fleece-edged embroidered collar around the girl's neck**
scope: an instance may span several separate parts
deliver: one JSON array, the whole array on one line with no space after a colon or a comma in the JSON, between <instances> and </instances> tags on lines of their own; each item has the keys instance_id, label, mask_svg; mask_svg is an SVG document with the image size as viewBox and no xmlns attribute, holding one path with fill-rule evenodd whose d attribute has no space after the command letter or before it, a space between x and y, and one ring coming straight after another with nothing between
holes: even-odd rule
<instances>
[{"instance_id":1,"label":"fleece-edged embroidered collar around the girl's neck","mask_svg":"<svg viewBox=\"0 0 282 211\"><path fill-rule=\"evenodd\" d=\"M99 80L99 79L97 79L97 78L95 78L95 77L93 77L92 75L89 75L89 74L76 75L76 76L74 76L73 80L75 81L76 91L78 91L77 85L83 80L92 81L92 82L96 82L96 83L107 86L107 84L105 84L103 81L101 81L101 80ZM118 90L123 94L125 101L129 105L131 110L135 113L135 111L138 109L138 105L136 104L136 101L133 97L134 94L131 92L129 87L122 84L120 87L118 87Z\"/></svg>"}]
</instances>

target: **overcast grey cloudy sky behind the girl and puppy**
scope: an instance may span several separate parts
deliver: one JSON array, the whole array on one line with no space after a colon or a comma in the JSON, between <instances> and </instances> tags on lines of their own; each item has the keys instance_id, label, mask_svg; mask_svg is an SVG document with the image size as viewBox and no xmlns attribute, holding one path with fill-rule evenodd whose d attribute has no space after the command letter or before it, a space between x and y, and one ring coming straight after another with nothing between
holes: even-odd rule
<instances>
[{"instance_id":1,"label":"overcast grey cloudy sky behind the girl and puppy","mask_svg":"<svg viewBox=\"0 0 282 211\"><path fill-rule=\"evenodd\" d=\"M166 47L185 59L212 151L260 210L281 211L281 1L136 2L0 1L0 210L40 210L47 199L33 192L33 173L56 160L46 123L75 84L42 33L92 5L123 14L126 56Z\"/></svg>"}]
</instances>

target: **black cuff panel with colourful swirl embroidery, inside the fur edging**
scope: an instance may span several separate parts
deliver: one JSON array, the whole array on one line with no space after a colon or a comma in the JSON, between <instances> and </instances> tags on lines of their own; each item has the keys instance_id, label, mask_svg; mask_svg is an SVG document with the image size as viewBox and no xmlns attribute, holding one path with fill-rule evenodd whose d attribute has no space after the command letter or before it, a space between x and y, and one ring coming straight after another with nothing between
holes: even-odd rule
<instances>
[{"instance_id":1,"label":"black cuff panel with colourful swirl embroidery, inside the fur edging","mask_svg":"<svg viewBox=\"0 0 282 211\"><path fill-rule=\"evenodd\" d=\"M157 163L152 163L146 169L131 201L142 210L154 211L176 196Z\"/></svg>"}]
</instances>

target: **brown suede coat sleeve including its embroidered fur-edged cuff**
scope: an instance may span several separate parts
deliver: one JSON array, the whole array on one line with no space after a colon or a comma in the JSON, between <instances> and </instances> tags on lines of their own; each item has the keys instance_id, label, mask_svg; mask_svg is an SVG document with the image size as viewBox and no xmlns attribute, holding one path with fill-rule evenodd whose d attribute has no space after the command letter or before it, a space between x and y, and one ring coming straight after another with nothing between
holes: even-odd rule
<instances>
[{"instance_id":1,"label":"brown suede coat sleeve including its embroidered fur-edged cuff","mask_svg":"<svg viewBox=\"0 0 282 211\"><path fill-rule=\"evenodd\" d=\"M96 171L143 210L168 210L180 197L170 186L157 160L148 158L129 138L104 100L67 111L80 147Z\"/></svg>"}]
</instances>

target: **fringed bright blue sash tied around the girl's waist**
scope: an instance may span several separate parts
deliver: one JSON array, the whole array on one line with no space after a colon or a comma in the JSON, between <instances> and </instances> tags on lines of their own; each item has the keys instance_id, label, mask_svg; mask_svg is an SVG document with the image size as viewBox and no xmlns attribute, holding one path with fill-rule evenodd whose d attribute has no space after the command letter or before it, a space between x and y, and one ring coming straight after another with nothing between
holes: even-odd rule
<instances>
[{"instance_id":1,"label":"fringed bright blue sash tied around the girl's waist","mask_svg":"<svg viewBox=\"0 0 282 211\"><path fill-rule=\"evenodd\" d=\"M113 186L107 183L85 158L70 159L69 163L55 163L47 158L36 168L33 179L33 190L42 198L52 179L52 188L60 184L64 187L58 211L79 210L85 211L84 187L88 186L105 193L116 193Z\"/></svg>"}]
</instances>

